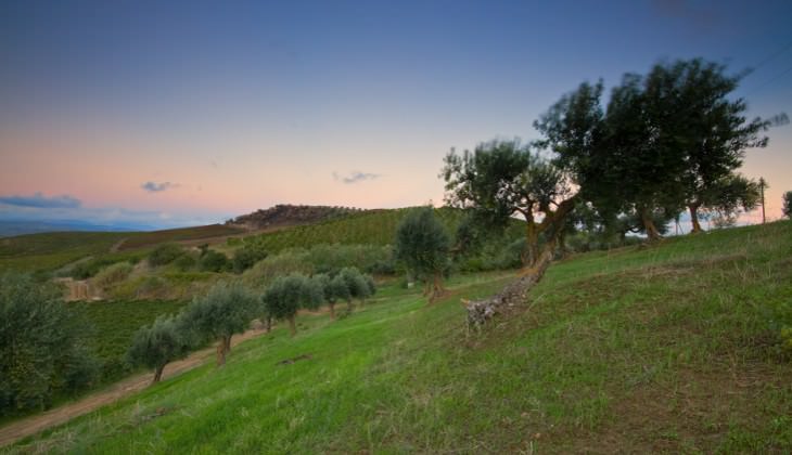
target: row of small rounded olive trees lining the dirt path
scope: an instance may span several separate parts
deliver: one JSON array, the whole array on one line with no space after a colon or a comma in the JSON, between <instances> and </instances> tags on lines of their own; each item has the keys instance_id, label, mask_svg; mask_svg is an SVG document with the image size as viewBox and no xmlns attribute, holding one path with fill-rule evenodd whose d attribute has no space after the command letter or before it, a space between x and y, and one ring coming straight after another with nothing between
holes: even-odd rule
<instances>
[{"instance_id":1,"label":"row of small rounded olive trees lining the dirt path","mask_svg":"<svg viewBox=\"0 0 792 455\"><path fill-rule=\"evenodd\" d=\"M153 382L159 381L165 365L186 356L208 341L217 341L217 365L226 363L231 338L245 332L254 318L270 326L272 320L288 321L292 336L299 309L316 310L327 303L331 317L338 300L361 302L376 291L370 275L346 268L335 276L301 274L281 276L257 295L240 284L218 283L208 294L196 297L176 316L161 316L141 327L127 352L132 365L154 369Z\"/></svg>"}]
</instances>

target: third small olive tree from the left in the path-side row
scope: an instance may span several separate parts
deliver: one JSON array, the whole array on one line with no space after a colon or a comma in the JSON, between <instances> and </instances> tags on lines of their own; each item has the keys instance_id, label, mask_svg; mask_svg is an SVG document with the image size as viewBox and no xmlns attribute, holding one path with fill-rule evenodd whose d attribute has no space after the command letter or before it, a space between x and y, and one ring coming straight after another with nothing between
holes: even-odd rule
<instances>
[{"instance_id":1,"label":"third small olive tree from the left in the path-side row","mask_svg":"<svg viewBox=\"0 0 792 455\"><path fill-rule=\"evenodd\" d=\"M296 316L299 308L316 309L323 300L322 288L318 282L304 275L279 277L267 288L263 301L265 311L277 320L289 321L292 336L297 334Z\"/></svg>"}]
</instances>

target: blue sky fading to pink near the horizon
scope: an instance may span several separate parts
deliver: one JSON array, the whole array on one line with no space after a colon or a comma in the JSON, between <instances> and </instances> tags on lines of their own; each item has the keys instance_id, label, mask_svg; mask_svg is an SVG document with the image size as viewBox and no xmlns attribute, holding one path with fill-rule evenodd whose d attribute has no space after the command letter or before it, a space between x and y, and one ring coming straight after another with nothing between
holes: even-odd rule
<instances>
[{"instance_id":1,"label":"blue sky fading to pink near the horizon","mask_svg":"<svg viewBox=\"0 0 792 455\"><path fill-rule=\"evenodd\" d=\"M792 115L790 18L789 0L4 1L0 220L440 204L451 147L537 139L580 82L661 60L753 68L749 116ZM778 219L792 125L767 134L741 171Z\"/></svg>"}]
</instances>

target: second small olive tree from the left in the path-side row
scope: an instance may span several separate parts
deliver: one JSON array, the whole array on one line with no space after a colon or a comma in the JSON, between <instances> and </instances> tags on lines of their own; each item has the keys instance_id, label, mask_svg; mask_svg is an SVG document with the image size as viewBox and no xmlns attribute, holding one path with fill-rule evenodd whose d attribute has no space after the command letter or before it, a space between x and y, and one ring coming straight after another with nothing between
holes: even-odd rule
<instances>
[{"instance_id":1,"label":"second small olive tree from the left in the path-side row","mask_svg":"<svg viewBox=\"0 0 792 455\"><path fill-rule=\"evenodd\" d=\"M231 351L231 337L247 328L255 312L256 299L244 287L218 283L206 296L195 298L183 317L187 327L218 341L217 366L222 366Z\"/></svg>"}]
</instances>

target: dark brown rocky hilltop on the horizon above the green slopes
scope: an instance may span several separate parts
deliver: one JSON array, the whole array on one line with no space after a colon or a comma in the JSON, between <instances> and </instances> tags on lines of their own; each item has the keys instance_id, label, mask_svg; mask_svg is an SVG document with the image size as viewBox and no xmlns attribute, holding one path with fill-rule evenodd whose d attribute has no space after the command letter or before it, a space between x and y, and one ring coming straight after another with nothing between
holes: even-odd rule
<instances>
[{"instance_id":1,"label":"dark brown rocky hilltop on the horizon above the green slopes","mask_svg":"<svg viewBox=\"0 0 792 455\"><path fill-rule=\"evenodd\" d=\"M290 227L314 224L322 221L337 220L363 209L330 206L294 206L279 204L268 209L258 209L253 213L242 214L226 222L227 226L260 231L277 227Z\"/></svg>"}]
</instances>

